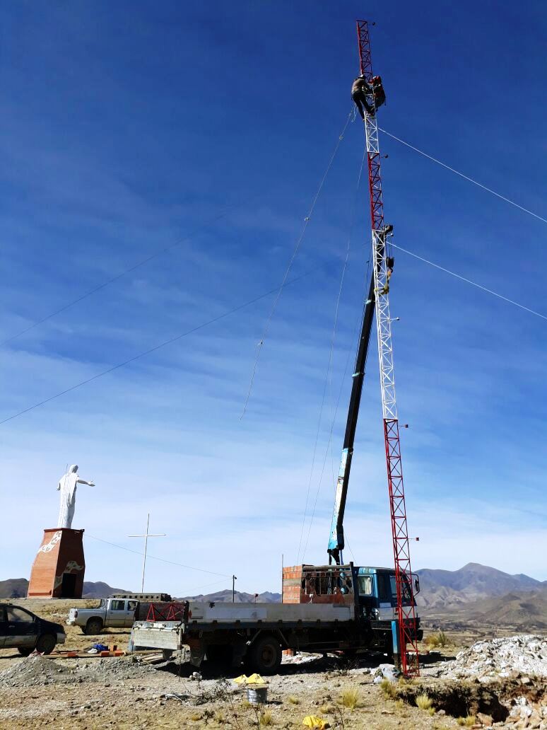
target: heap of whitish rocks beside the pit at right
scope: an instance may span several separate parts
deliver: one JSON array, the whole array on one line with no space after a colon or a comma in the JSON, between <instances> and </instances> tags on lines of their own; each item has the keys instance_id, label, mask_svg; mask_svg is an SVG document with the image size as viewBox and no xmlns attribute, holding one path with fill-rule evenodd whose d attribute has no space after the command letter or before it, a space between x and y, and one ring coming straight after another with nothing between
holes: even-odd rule
<instances>
[{"instance_id":1,"label":"heap of whitish rocks beside the pit at right","mask_svg":"<svg viewBox=\"0 0 547 730\"><path fill-rule=\"evenodd\" d=\"M442 676L509 677L511 673L547 677L547 637L519 634L479 641L447 661Z\"/></svg>"}]
</instances>

